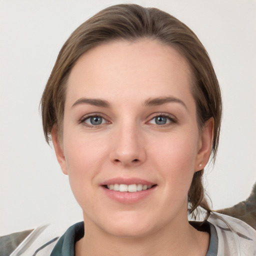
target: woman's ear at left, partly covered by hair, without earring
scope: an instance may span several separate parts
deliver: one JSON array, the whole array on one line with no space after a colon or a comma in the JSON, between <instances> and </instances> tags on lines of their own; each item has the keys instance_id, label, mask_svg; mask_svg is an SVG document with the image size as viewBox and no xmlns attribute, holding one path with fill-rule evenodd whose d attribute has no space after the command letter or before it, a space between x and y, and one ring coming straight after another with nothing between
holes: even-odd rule
<instances>
[{"instance_id":1,"label":"woman's ear at left, partly covered by hair, without earring","mask_svg":"<svg viewBox=\"0 0 256 256\"><path fill-rule=\"evenodd\" d=\"M58 141L58 135L57 135L57 127L56 125L53 125L51 129L51 141L55 150L55 154L57 157L57 161L60 165L60 168L64 174L67 175L67 168L66 168L66 159L63 153L63 145L60 144Z\"/></svg>"}]
</instances>

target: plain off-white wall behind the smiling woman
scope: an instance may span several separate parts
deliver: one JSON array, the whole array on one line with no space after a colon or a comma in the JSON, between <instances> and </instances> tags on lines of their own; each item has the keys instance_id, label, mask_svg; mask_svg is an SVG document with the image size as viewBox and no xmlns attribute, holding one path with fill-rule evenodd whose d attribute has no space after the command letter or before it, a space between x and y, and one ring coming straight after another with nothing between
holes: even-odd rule
<instances>
[{"instance_id":1,"label":"plain off-white wall behind the smiling woman","mask_svg":"<svg viewBox=\"0 0 256 256\"><path fill-rule=\"evenodd\" d=\"M60 47L100 9L121 0L0 0L0 235L82 217L44 140L39 100ZM206 47L223 95L213 208L245 199L256 180L256 1L130 0L186 23Z\"/></svg>"}]
</instances>

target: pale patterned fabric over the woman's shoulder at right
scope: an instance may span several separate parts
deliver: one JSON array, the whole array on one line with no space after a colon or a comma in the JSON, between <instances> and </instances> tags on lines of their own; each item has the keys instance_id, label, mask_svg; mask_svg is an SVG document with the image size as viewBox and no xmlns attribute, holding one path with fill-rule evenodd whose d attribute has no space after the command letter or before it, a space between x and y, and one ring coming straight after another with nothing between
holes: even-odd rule
<instances>
[{"instance_id":1,"label":"pale patterned fabric over the woman's shoulder at right","mask_svg":"<svg viewBox=\"0 0 256 256\"><path fill-rule=\"evenodd\" d=\"M256 253L256 230L245 222L216 212L212 212L207 221L217 232L217 255L248 256Z\"/></svg>"}]
</instances>

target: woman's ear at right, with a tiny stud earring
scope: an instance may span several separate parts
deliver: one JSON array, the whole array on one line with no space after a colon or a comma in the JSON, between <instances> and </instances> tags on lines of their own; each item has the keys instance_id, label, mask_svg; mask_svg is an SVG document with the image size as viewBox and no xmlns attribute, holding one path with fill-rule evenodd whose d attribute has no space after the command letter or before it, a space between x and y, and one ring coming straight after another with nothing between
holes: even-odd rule
<instances>
[{"instance_id":1,"label":"woman's ear at right, with a tiny stud earring","mask_svg":"<svg viewBox=\"0 0 256 256\"><path fill-rule=\"evenodd\" d=\"M214 120L212 117L210 117L205 122L198 140L194 171L203 169L209 160L211 152L211 143L213 139L213 127Z\"/></svg>"}]
</instances>

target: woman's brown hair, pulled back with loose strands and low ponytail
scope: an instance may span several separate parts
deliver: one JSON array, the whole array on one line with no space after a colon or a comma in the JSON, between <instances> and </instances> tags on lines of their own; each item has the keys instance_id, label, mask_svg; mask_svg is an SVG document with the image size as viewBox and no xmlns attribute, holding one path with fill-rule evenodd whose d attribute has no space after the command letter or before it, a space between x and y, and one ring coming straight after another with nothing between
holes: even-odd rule
<instances>
[{"instance_id":1,"label":"woman's brown hair, pulled back with loose strands and low ponytail","mask_svg":"<svg viewBox=\"0 0 256 256\"><path fill-rule=\"evenodd\" d=\"M47 81L41 98L42 124L49 143L53 125L62 136L65 87L77 59L88 49L110 40L135 41L152 38L174 47L188 62L192 77L192 94L196 102L197 122L201 130L210 117L214 119L211 156L214 162L221 120L221 95L210 58L197 36L185 24L156 8L136 4L107 7L82 23L66 40ZM194 173L188 191L190 213L197 206L210 212L202 185L203 169ZM195 216L195 215L194 215Z\"/></svg>"}]
</instances>

